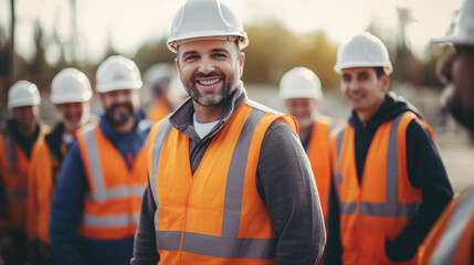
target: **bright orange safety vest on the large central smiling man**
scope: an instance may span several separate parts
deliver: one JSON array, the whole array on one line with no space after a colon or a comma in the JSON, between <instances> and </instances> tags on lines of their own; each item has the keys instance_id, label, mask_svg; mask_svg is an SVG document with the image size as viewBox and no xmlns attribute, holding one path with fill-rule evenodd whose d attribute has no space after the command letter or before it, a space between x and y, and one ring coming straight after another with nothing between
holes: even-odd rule
<instances>
[{"instance_id":1,"label":"bright orange safety vest on the large central smiling man","mask_svg":"<svg viewBox=\"0 0 474 265\"><path fill-rule=\"evenodd\" d=\"M268 126L296 123L254 102L219 129L194 174L189 138L168 119L155 125L148 170L160 264L273 264L276 239L255 174Z\"/></svg>"}]
</instances>

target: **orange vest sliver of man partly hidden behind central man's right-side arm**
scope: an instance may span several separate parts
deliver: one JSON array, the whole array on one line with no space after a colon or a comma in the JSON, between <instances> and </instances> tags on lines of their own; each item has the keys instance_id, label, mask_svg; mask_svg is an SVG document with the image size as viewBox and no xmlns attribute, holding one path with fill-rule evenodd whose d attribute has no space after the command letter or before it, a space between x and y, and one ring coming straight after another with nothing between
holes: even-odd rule
<instances>
[{"instance_id":1,"label":"orange vest sliver of man partly hidden behind central man's right-side arm","mask_svg":"<svg viewBox=\"0 0 474 265\"><path fill-rule=\"evenodd\" d=\"M324 219L327 220L329 187L330 187L330 161L329 161L329 132L331 120L320 116L313 125L310 139L307 147L307 156L312 165L323 209Z\"/></svg>"}]
</instances>

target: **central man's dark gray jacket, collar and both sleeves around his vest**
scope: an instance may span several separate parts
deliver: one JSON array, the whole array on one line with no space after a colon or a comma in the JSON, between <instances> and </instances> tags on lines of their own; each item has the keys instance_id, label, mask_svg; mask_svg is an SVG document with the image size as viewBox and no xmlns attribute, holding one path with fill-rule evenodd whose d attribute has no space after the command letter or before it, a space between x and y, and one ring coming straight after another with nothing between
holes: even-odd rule
<instances>
[{"instance_id":1,"label":"central man's dark gray jacket, collar and both sleeves around his vest","mask_svg":"<svg viewBox=\"0 0 474 265\"><path fill-rule=\"evenodd\" d=\"M246 99L239 87L228 99L223 115L213 130L225 123ZM192 127L194 113L188 99L169 119L189 137L191 171L198 168L212 137L202 140ZM215 135L215 134L214 134ZM256 172L259 194L266 205L276 235L275 264L315 264L325 245L325 227L320 203L306 153L299 138L284 121L273 123L263 138ZM155 212L157 205L150 187L145 191L140 223L134 247L133 265L157 264Z\"/></svg>"}]
</instances>

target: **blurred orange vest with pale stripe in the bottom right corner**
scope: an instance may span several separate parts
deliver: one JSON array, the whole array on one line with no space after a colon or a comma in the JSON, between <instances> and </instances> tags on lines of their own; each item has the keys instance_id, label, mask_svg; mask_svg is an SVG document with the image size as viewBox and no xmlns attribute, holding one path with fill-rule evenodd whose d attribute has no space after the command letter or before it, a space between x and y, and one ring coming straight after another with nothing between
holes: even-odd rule
<instances>
[{"instance_id":1,"label":"blurred orange vest with pale stripe in the bottom right corner","mask_svg":"<svg viewBox=\"0 0 474 265\"><path fill-rule=\"evenodd\" d=\"M474 244L474 189L454 199L423 243L419 264L472 264Z\"/></svg>"}]
</instances>

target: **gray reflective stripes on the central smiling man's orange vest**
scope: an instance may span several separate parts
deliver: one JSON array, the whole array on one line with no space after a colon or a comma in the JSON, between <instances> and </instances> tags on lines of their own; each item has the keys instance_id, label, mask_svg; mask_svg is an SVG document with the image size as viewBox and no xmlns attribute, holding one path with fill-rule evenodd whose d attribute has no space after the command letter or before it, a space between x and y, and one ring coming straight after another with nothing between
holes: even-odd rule
<instances>
[{"instance_id":1,"label":"gray reflective stripes on the central smiling man's orange vest","mask_svg":"<svg viewBox=\"0 0 474 265\"><path fill-rule=\"evenodd\" d=\"M243 188L246 161L254 129L265 112L253 108L240 131L238 142L233 149L225 187L221 236L199 234L181 231L156 231L158 250L179 251L181 239L182 252L223 258L274 258L276 253L275 239L239 239ZM171 130L168 119L164 119L158 128L152 147L150 184L155 202L157 198L157 172L162 147ZM158 213L158 211L157 211ZM156 229L158 214L155 215Z\"/></svg>"}]
</instances>

